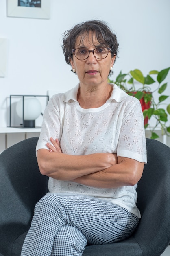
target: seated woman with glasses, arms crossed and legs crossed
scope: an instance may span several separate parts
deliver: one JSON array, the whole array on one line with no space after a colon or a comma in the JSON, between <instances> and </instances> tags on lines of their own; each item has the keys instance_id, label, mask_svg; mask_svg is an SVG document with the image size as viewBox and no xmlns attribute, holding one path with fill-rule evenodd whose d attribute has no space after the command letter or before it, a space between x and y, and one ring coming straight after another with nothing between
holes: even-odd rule
<instances>
[{"instance_id":1,"label":"seated woman with glasses, arms crossed and legs crossed","mask_svg":"<svg viewBox=\"0 0 170 256\"><path fill-rule=\"evenodd\" d=\"M118 242L137 227L144 120L139 101L107 83L117 51L116 35L99 20L64 34L79 83L54 95L44 113L36 150L50 193L35 206L22 256L79 256L87 243Z\"/></svg>"}]
</instances>

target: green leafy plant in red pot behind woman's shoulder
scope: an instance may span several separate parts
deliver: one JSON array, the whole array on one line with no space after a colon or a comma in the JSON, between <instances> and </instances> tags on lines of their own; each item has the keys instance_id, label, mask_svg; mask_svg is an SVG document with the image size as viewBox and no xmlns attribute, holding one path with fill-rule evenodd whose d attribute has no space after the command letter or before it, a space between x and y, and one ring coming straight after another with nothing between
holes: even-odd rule
<instances>
[{"instance_id":1,"label":"green leafy plant in red pot behind woman's shoulder","mask_svg":"<svg viewBox=\"0 0 170 256\"><path fill-rule=\"evenodd\" d=\"M155 133L157 126L161 128L162 135L170 136L170 126L167 125L168 115L170 115L170 104L163 102L169 97L163 95L168 84L163 81L168 75L169 70L170 67L160 72L151 70L146 77L144 77L139 69L131 70L127 74L122 74L122 71L120 71L115 80L108 79L108 82L115 83L124 92L140 100L144 115L144 125L145 128L149 128L152 139L159 137ZM157 101L155 100L155 92L160 95ZM153 127L150 126L151 117L154 117L156 120Z\"/></svg>"}]
</instances>

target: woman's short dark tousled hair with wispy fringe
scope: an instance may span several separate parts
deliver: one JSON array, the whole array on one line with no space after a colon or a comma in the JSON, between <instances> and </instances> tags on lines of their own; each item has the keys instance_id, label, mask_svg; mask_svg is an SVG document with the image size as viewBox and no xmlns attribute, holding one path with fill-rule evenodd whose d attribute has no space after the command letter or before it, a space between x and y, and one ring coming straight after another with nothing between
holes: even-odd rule
<instances>
[{"instance_id":1,"label":"woman's short dark tousled hair with wispy fringe","mask_svg":"<svg viewBox=\"0 0 170 256\"><path fill-rule=\"evenodd\" d=\"M92 32L93 35L101 45L111 48L111 56L117 56L118 53L118 42L116 34L109 28L106 22L102 20L89 20L86 22L75 25L72 29L69 29L63 33L63 45L62 49L65 55L65 61L68 65L70 64L70 58L73 58L72 49L75 48L77 38L80 36L80 41Z\"/></svg>"}]
</instances>

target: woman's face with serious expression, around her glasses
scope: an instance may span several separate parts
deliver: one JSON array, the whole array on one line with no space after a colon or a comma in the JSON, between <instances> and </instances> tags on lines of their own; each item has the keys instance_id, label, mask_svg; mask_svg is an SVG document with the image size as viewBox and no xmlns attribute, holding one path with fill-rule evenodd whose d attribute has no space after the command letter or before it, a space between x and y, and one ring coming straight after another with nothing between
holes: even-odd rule
<instances>
[{"instance_id":1,"label":"woman's face with serious expression, around her glasses","mask_svg":"<svg viewBox=\"0 0 170 256\"><path fill-rule=\"evenodd\" d=\"M83 40L83 44L77 38L75 49L83 47L84 49L93 50L97 46L105 47L105 45L99 45L98 41L93 39L89 34ZM95 45L94 45L95 44ZM109 47L109 45L108 45ZM97 59L94 54L90 52L89 57L85 60L78 60L73 54L73 59L70 59L72 68L76 70L76 74L79 78L80 85L100 85L102 83L107 83L107 78L110 72L110 67L113 67L114 59L116 56L112 57L109 51L108 55L104 59Z\"/></svg>"}]
</instances>

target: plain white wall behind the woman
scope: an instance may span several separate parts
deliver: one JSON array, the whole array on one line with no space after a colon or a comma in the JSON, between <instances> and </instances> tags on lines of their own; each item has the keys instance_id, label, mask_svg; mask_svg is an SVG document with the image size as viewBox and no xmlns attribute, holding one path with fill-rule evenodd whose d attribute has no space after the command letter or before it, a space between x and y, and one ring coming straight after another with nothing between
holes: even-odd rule
<instances>
[{"instance_id":1,"label":"plain white wall behind the woman","mask_svg":"<svg viewBox=\"0 0 170 256\"><path fill-rule=\"evenodd\" d=\"M139 68L146 75L169 67L169 11L170 0L51 0L49 20L12 18L6 15L6 1L0 0L0 38L7 38L7 74L0 78L0 126L7 126L10 94L46 94L76 85L78 79L65 63L61 34L77 22L102 19L116 32L120 48L115 76L120 70Z\"/></svg>"}]
</instances>

